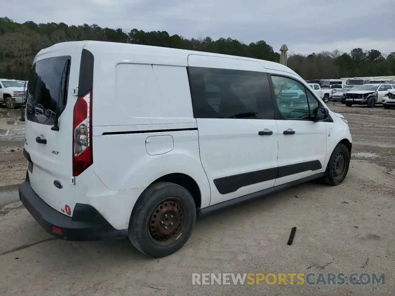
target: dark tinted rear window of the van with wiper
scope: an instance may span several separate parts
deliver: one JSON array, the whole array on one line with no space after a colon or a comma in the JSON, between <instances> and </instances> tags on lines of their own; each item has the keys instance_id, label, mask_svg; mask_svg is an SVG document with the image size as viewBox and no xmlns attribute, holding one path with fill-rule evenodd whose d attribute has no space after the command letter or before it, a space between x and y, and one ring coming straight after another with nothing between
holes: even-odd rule
<instances>
[{"instance_id":1,"label":"dark tinted rear window of the van with wiper","mask_svg":"<svg viewBox=\"0 0 395 296\"><path fill-rule=\"evenodd\" d=\"M70 56L56 56L36 62L30 72L26 119L53 125L67 103Z\"/></svg>"}]
</instances>

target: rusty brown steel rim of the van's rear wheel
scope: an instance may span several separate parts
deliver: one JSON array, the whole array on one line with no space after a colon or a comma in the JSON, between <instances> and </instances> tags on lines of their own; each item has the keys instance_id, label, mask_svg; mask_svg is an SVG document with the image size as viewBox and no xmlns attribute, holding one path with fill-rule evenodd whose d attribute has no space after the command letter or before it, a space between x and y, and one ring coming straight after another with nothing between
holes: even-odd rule
<instances>
[{"instance_id":1,"label":"rusty brown steel rim of the van's rear wheel","mask_svg":"<svg viewBox=\"0 0 395 296\"><path fill-rule=\"evenodd\" d=\"M150 239L156 245L166 247L179 239L186 227L185 204L177 198L160 202L151 212L148 220Z\"/></svg>"}]
</instances>

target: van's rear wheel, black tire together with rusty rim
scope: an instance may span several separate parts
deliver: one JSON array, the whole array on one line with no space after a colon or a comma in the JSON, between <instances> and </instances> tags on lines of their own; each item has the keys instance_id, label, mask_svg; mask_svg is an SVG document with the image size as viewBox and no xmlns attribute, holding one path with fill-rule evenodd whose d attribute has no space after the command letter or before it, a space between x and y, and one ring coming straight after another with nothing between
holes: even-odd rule
<instances>
[{"instance_id":1,"label":"van's rear wheel, black tire together with rusty rim","mask_svg":"<svg viewBox=\"0 0 395 296\"><path fill-rule=\"evenodd\" d=\"M195 221L196 205L189 191L174 183L158 182L145 189L137 200L128 237L141 253L165 257L181 249L191 236Z\"/></svg>"}]
</instances>

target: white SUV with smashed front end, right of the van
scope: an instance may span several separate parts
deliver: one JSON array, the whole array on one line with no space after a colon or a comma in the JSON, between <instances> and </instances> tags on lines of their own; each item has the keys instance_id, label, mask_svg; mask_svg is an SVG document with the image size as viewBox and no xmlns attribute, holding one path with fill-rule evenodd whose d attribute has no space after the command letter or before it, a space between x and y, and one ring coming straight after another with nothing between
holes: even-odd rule
<instances>
[{"instance_id":1,"label":"white SUV with smashed front end, right of the van","mask_svg":"<svg viewBox=\"0 0 395 296\"><path fill-rule=\"evenodd\" d=\"M376 104L381 104L384 95L389 89L393 89L390 84L364 84L357 90L349 90L346 92L346 106L351 107L356 105L367 105L374 107Z\"/></svg>"}]
</instances>

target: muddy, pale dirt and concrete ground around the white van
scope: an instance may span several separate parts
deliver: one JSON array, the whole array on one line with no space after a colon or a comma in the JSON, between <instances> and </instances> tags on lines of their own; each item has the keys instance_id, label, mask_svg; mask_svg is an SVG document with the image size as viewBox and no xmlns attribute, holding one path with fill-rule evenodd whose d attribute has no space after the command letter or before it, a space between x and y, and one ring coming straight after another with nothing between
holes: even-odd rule
<instances>
[{"instance_id":1,"label":"muddy, pale dirt and concrete ground around the white van","mask_svg":"<svg viewBox=\"0 0 395 296\"><path fill-rule=\"evenodd\" d=\"M127 240L56 240L20 202L0 207L0 295L393 295L395 110L328 105L344 114L353 136L343 184L302 184L203 217L188 243L163 259L140 255ZM21 135L0 138L3 189L24 179L22 144ZM197 286L193 272L386 277L384 285Z\"/></svg>"}]
</instances>

